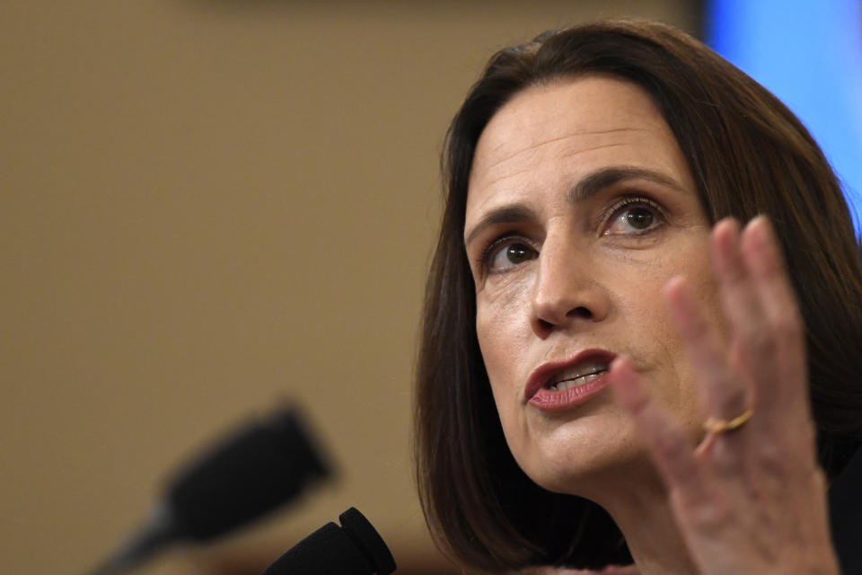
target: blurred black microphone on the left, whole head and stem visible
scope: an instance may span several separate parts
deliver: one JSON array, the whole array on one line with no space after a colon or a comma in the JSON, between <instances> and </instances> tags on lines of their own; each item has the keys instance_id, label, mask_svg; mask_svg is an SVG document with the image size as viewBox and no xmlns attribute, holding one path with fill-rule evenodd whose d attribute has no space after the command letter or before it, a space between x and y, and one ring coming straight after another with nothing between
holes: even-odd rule
<instances>
[{"instance_id":1,"label":"blurred black microphone on the left, whole head and stem visible","mask_svg":"<svg viewBox=\"0 0 862 575\"><path fill-rule=\"evenodd\" d=\"M91 575L119 575L171 544L205 543L295 499L330 466L295 408L223 438L167 482L162 504Z\"/></svg>"}]
</instances>

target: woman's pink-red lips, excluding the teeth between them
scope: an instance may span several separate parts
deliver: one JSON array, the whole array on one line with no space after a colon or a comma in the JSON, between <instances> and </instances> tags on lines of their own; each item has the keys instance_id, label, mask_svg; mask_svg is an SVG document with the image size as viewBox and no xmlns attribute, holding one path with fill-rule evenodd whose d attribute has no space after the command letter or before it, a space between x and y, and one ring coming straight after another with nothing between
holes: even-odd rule
<instances>
[{"instance_id":1,"label":"woman's pink-red lips, excluding the teeth between them","mask_svg":"<svg viewBox=\"0 0 862 575\"><path fill-rule=\"evenodd\" d=\"M605 349L584 349L573 358L565 361L542 364L536 367L527 380L527 385L523 389L524 400L543 411L561 411L585 403L610 383L611 380L607 377L607 372L584 385L570 387L559 392L545 387L545 384L554 374L578 363L599 361L610 366L611 361L616 357L617 354Z\"/></svg>"}]
</instances>

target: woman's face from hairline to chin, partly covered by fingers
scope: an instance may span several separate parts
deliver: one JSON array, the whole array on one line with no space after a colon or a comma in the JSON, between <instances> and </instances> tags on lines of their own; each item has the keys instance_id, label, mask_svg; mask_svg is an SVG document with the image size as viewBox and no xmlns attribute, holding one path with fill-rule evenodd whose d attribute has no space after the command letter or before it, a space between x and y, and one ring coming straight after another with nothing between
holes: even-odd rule
<instances>
[{"instance_id":1,"label":"woman's face from hairline to chin, partly covered by fingers","mask_svg":"<svg viewBox=\"0 0 862 575\"><path fill-rule=\"evenodd\" d=\"M464 238L497 411L533 481L588 496L647 462L602 376L620 354L698 438L693 374L663 288L687 276L720 322L709 234L682 151L636 85L586 76L534 86L488 123Z\"/></svg>"}]
</instances>

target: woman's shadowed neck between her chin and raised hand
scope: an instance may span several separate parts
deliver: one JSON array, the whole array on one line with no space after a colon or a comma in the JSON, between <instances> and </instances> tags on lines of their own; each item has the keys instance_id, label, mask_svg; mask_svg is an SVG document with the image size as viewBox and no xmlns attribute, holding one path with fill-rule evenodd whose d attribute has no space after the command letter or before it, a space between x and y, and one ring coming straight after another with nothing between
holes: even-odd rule
<instances>
[{"instance_id":1,"label":"woman's shadowed neck between her chin and raised hand","mask_svg":"<svg viewBox=\"0 0 862 575\"><path fill-rule=\"evenodd\" d=\"M644 465L644 473L630 471L613 473L610 481L601 482L600 489L585 497L601 505L613 517L629 544L640 575L697 573L673 517L664 482L651 466ZM620 477L627 480L620 482Z\"/></svg>"}]
</instances>

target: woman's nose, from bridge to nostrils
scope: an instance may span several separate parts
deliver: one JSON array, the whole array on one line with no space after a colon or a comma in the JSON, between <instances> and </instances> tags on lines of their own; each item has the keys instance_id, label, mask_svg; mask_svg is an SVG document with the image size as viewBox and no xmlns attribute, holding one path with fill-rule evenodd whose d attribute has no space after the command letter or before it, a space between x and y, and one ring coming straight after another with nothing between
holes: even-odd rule
<instances>
[{"instance_id":1,"label":"woman's nose, from bridge to nostrils","mask_svg":"<svg viewBox=\"0 0 862 575\"><path fill-rule=\"evenodd\" d=\"M592 258L569 241L546 241L533 286L533 332L545 338L554 331L585 328L603 321L610 310L610 295L596 277Z\"/></svg>"}]
</instances>

